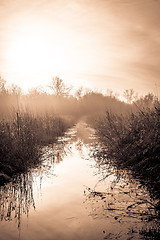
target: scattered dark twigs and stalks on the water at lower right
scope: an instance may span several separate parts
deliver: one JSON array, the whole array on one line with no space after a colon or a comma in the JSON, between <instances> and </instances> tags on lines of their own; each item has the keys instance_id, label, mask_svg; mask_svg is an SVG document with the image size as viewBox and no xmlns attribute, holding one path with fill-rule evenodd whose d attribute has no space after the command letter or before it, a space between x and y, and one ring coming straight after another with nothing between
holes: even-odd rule
<instances>
[{"instance_id":1,"label":"scattered dark twigs and stalks on the water at lower right","mask_svg":"<svg viewBox=\"0 0 160 240\"><path fill-rule=\"evenodd\" d=\"M147 221L158 217L155 211L156 203L149 199L145 189L138 183L136 185L135 182L121 181L114 188L110 186L105 192L86 187L85 197L86 202L90 202L94 206L93 209L96 212L92 213L93 217L112 216L119 222L124 222L129 217Z\"/></svg>"}]
</instances>

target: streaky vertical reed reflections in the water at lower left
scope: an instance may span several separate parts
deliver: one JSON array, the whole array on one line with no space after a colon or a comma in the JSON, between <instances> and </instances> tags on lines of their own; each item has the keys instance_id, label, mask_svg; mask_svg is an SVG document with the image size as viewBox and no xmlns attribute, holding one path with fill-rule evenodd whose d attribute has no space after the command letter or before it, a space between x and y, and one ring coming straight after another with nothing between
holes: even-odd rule
<instances>
[{"instance_id":1,"label":"streaky vertical reed reflections in the water at lower left","mask_svg":"<svg viewBox=\"0 0 160 240\"><path fill-rule=\"evenodd\" d=\"M20 228L22 214L28 216L29 209L31 207L35 209L32 184L32 174L26 173L0 188L1 221L15 219Z\"/></svg>"}]
</instances>

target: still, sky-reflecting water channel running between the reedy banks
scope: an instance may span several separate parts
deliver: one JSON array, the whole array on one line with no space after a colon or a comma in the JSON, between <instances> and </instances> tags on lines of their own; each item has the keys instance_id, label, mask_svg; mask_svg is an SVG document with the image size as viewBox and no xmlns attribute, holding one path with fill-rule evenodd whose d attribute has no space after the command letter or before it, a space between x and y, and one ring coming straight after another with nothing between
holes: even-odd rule
<instances>
[{"instance_id":1,"label":"still, sky-reflecting water channel running between the reedy banks","mask_svg":"<svg viewBox=\"0 0 160 240\"><path fill-rule=\"evenodd\" d=\"M1 187L0 240L143 239L156 203L129 174L110 166L106 177L97 144L79 122L43 148L41 166Z\"/></svg>"}]
</instances>

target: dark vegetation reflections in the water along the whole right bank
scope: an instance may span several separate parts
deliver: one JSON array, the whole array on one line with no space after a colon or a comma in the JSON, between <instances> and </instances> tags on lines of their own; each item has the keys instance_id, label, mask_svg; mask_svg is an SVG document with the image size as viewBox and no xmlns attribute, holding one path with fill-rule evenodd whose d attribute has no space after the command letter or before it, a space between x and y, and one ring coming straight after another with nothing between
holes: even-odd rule
<instances>
[{"instance_id":1,"label":"dark vegetation reflections in the water along the whole right bank","mask_svg":"<svg viewBox=\"0 0 160 240\"><path fill-rule=\"evenodd\" d=\"M100 143L93 144L90 149L90 158L94 159L100 177L94 189L86 187L84 191L90 215L93 218L112 219L113 224L117 222L121 226L121 233L109 232L104 239L159 239L159 201L152 198L146 185L133 177L131 171L121 169L110 160L106 161L106 150ZM105 192L97 190L101 182L106 182L108 186ZM151 238L143 238L146 232ZM158 238L155 238L156 235Z\"/></svg>"}]
</instances>

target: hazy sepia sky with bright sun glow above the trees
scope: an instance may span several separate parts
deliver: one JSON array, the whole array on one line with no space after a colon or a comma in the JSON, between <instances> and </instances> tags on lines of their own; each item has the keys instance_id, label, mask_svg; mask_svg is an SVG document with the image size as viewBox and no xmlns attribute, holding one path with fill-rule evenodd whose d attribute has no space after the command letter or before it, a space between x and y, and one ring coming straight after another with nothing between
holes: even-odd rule
<instances>
[{"instance_id":1,"label":"hazy sepia sky with bright sun glow above the trees","mask_svg":"<svg viewBox=\"0 0 160 240\"><path fill-rule=\"evenodd\" d=\"M0 74L160 93L160 1L0 0Z\"/></svg>"}]
</instances>

